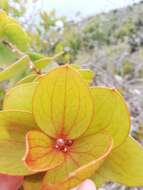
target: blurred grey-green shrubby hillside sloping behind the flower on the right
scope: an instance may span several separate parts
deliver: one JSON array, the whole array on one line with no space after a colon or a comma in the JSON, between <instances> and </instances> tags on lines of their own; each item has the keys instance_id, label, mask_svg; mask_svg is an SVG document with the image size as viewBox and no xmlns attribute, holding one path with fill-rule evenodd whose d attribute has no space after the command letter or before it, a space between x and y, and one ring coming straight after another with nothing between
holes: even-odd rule
<instances>
[{"instance_id":1,"label":"blurred grey-green shrubby hillside sloping behind the flower on the right","mask_svg":"<svg viewBox=\"0 0 143 190\"><path fill-rule=\"evenodd\" d=\"M82 40L76 63L95 71L95 85L121 91L131 113L131 133L143 143L143 1L87 18L77 27ZM129 189L115 184L104 188Z\"/></svg>"}]
</instances>

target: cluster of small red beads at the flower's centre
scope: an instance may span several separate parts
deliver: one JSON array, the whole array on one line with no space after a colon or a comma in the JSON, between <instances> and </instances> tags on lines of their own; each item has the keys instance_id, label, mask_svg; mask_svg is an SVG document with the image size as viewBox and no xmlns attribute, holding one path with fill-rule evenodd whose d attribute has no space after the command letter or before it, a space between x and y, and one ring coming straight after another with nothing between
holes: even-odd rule
<instances>
[{"instance_id":1,"label":"cluster of small red beads at the flower's centre","mask_svg":"<svg viewBox=\"0 0 143 190\"><path fill-rule=\"evenodd\" d=\"M59 138L59 139L56 139L56 142L55 142L55 148L64 153L69 152L70 147L72 145L73 145L73 140L71 139Z\"/></svg>"}]
</instances>

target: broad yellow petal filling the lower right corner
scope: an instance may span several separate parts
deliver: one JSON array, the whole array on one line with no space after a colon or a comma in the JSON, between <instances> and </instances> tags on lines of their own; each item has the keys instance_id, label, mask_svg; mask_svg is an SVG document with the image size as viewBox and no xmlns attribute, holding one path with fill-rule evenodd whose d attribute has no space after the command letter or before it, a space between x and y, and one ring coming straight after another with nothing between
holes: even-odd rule
<instances>
[{"instance_id":1,"label":"broad yellow petal filling the lower right corner","mask_svg":"<svg viewBox=\"0 0 143 190\"><path fill-rule=\"evenodd\" d=\"M106 181L126 186L143 186L143 147L132 137L115 149L99 170ZM95 177L95 178L94 178ZM95 179L96 175L92 179Z\"/></svg>"}]
</instances>

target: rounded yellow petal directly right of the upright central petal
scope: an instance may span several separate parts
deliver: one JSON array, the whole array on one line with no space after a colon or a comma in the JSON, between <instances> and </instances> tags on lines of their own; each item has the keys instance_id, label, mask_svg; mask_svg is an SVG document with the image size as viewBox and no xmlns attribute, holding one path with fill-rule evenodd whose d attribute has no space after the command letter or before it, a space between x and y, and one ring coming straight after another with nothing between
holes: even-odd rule
<instances>
[{"instance_id":1,"label":"rounded yellow petal directly right of the upright central petal","mask_svg":"<svg viewBox=\"0 0 143 190\"><path fill-rule=\"evenodd\" d=\"M100 130L112 136L114 147L125 141L130 129L130 116L124 98L116 89L91 88L94 98L94 119L86 131L93 134Z\"/></svg>"}]
</instances>

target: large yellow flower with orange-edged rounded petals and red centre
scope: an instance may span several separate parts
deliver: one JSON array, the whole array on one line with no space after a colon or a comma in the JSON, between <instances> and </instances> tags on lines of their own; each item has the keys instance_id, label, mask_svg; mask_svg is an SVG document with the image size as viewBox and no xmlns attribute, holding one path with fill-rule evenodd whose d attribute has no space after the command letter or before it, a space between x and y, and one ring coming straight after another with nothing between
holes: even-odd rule
<instances>
[{"instance_id":1,"label":"large yellow flower with orange-edged rounded petals and red centre","mask_svg":"<svg viewBox=\"0 0 143 190\"><path fill-rule=\"evenodd\" d=\"M68 190L87 178L143 186L143 149L129 135L118 90L90 87L59 66L11 88L0 112L0 172L25 176L26 190Z\"/></svg>"}]
</instances>

